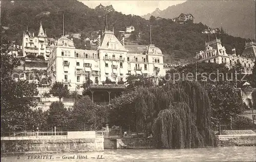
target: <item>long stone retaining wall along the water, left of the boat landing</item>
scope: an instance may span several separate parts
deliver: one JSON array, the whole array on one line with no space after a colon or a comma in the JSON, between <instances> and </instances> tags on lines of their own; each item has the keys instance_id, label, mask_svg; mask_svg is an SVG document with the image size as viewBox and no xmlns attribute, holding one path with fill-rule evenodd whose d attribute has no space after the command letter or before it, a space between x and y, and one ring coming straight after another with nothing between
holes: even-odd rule
<instances>
[{"instance_id":1,"label":"long stone retaining wall along the water, left of the boat landing","mask_svg":"<svg viewBox=\"0 0 256 162\"><path fill-rule=\"evenodd\" d=\"M1 153L103 151L103 138L56 140L1 140Z\"/></svg>"}]
</instances>

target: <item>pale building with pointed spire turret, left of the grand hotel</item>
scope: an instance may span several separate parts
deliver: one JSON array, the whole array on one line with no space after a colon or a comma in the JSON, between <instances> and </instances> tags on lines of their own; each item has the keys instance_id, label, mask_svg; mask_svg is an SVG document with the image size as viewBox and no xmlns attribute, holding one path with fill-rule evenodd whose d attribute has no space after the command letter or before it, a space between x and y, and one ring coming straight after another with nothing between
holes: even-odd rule
<instances>
[{"instance_id":1,"label":"pale building with pointed spire turret, left of the grand hotel","mask_svg":"<svg viewBox=\"0 0 256 162\"><path fill-rule=\"evenodd\" d=\"M45 60L48 60L51 51L55 47L55 39L47 37L46 30L44 31L40 22L37 35L30 32L28 28L23 33L22 47L24 57L41 56L44 57Z\"/></svg>"}]
</instances>

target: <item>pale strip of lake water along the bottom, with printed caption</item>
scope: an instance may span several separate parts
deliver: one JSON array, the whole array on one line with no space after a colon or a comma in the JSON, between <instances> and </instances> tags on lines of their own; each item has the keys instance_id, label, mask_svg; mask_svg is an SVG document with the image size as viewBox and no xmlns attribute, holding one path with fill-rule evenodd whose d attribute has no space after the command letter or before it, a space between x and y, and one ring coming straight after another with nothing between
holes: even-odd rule
<instances>
[{"instance_id":1,"label":"pale strip of lake water along the bottom, with printed caption","mask_svg":"<svg viewBox=\"0 0 256 162\"><path fill-rule=\"evenodd\" d=\"M75 159L69 159L70 157ZM105 149L104 152L89 153L2 155L1 161L256 161L256 148L235 146L175 150Z\"/></svg>"}]
</instances>

